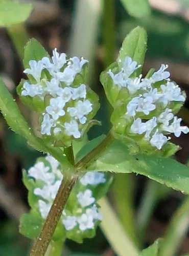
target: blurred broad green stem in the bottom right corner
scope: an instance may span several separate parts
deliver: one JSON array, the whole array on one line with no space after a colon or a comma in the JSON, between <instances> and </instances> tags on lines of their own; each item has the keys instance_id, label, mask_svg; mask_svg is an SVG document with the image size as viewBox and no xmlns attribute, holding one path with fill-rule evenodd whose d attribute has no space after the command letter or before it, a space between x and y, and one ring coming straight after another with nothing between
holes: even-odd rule
<instances>
[{"instance_id":1,"label":"blurred broad green stem in the bottom right corner","mask_svg":"<svg viewBox=\"0 0 189 256\"><path fill-rule=\"evenodd\" d=\"M189 226L189 197L175 212L161 242L159 256L173 256L177 252Z\"/></svg>"}]
</instances>

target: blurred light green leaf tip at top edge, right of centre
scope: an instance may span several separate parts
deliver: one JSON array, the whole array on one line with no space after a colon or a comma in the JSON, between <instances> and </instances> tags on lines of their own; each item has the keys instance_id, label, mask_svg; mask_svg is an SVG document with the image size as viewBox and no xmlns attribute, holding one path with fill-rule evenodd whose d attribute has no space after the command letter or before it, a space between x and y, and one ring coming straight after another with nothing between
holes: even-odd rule
<instances>
[{"instance_id":1,"label":"blurred light green leaf tip at top edge, right of centre","mask_svg":"<svg viewBox=\"0 0 189 256\"><path fill-rule=\"evenodd\" d=\"M148 0L121 0L127 12L135 17L142 18L150 15L150 5Z\"/></svg>"}]
</instances>

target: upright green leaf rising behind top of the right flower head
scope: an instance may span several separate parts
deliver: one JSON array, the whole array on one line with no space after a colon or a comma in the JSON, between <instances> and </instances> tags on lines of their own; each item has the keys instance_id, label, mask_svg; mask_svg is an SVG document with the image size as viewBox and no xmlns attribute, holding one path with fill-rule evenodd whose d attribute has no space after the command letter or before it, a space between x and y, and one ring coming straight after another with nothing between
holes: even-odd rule
<instances>
[{"instance_id":1,"label":"upright green leaf rising behind top of the right flower head","mask_svg":"<svg viewBox=\"0 0 189 256\"><path fill-rule=\"evenodd\" d=\"M130 1L132 2L132 1ZM122 68L122 61L126 56L131 57L138 64L143 65L147 50L147 33L144 28L136 27L123 41L120 54L117 58L118 65ZM119 61L121 60L121 62ZM137 70L140 73L141 68Z\"/></svg>"}]
</instances>

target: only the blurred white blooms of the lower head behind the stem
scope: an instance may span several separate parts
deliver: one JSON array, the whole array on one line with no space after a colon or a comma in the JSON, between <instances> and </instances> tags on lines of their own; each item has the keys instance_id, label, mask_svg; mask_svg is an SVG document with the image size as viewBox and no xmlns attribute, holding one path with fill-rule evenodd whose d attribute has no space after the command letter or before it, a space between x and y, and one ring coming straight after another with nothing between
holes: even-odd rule
<instances>
[{"instance_id":1,"label":"only the blurred white blooms of the lower head behind the stem","mask_svg":"<svg viewBox=\"0 0 189 256\"><path fill-rule=\"evenodd\" d=\"M42 218L47 217L63 177L57 160L50 155L46 156L45 160L49 162L51 168L39 161L28 171L29 177L43 183L42 186L36 187L33 191L36 196L41 198L38 201L38 208ZM96 199L92 196L92 190L85 189L85 187L87 185L95 187L106 182L104 173L87 172L79 182L82 191L77 192L78 204L73 206L73 208L77 207L75 209L76 214L66 214L66 208L62 213L61 221L66 230L79 228L81 231L85 231L94 228L96 223L102 220Z\"/></svg>"}]
</instances>

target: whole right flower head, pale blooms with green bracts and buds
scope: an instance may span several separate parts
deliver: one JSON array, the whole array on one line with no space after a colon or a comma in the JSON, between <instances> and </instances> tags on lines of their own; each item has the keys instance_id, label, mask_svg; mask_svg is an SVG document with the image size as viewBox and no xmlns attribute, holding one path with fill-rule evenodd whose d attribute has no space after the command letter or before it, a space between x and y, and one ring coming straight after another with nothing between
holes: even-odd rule
<instances>
[{"instance_id":1,"label":"whole right flower head, pale blooms with green bracts and buds","mask_svg":"<svg viewBox=\"0 0 189 256\"><path fill-rule=\"evenodd\" d=\"M181 132L189 132L188 127L180 126L182 119L174 116L185 101L185 93L169 79L168 65L162 64L150 77L141 78L136 77L140 65L130 57L118 63L119 68L106 73L115 90L112 122L117 133L161 150L169 143L166 135L179 137Z\"/></svg>"}]
</instances>

